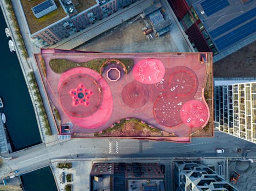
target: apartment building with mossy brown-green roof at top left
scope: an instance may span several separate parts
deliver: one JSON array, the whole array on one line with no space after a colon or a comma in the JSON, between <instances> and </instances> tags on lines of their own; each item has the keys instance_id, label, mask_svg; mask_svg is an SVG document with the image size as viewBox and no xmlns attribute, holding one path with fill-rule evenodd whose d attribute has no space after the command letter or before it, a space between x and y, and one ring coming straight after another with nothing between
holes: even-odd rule
<instances>
[{"instance_id":1,"label":"apartment building with mossy brown-green roof at top left","mask_svg":"<svg viewBox=\"0 0 256 191\"><path fill-rule=\"evenodd\" d=\"M53 45L138 0L20 0L30 37Z\"/></svg>"}]
</instances>

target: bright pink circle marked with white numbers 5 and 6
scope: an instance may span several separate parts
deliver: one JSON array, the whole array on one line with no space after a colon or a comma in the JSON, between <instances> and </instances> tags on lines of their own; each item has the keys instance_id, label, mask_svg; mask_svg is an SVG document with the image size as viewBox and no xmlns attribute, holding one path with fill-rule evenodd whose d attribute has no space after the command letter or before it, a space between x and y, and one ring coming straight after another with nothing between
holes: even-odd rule
<instances>
[{"instance_id":1,"label":"bright pink circle marked with white numbers 5 and 6","mask_svg":"<svg viewBox=\"0 0 256 191\"><path fill-rule=\"evenodd\" d=\"M208 119L207 106L198 100L186 102L180 111L181 120L189 127L202 127Z\"/></svg>"}]
</instances>

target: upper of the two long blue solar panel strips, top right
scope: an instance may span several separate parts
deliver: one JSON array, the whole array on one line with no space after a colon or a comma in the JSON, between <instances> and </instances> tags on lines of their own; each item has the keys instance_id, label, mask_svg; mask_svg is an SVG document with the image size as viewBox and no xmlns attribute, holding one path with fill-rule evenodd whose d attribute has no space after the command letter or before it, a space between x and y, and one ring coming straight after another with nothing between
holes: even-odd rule
<instances>
[{"instance_id":1,"label":"upper of the two long blue solar panel strips, top right","mask_svg":"<svg viewBox=\"0 0 256 191\"><path fill-rule=\"evenodd\" d=\"M210 32L211 37L215 38L218 37L220 34L223 34L226 31L229 31L230 29L241 25L243 22L246 22L247 20L253 18L256 16L256 8L249 10L248 12L236 17L235 19L232 19L231 21L225 23L224 25L221 25L220 27L214 29Z\"/></svg>"}]
</instances>

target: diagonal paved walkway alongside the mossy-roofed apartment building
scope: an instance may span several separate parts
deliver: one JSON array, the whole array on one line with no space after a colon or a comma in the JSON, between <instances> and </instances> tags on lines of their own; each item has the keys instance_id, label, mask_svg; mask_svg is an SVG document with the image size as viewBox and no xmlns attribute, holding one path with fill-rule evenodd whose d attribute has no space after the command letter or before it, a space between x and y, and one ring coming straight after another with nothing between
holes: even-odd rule
<instances>
[{"instance_id":1,"label":"diagonal paved walkway alongside the mossy-roofed apartment building","mask_svg":"<svg viewBox=\"0 0 256 191\"><path fill-rule=\"evenodd\" d=\"M134 16L143 12L143 10L153 4L153 0L141 0L134 2L129 7L117 11L109 17L96 22L81 32L71 35L69 38L61 40L52 47L58 49L75 49L75 47L86 43L88 40L114 28L123 22L132 19Z\"/></svg>"}]
</instances>

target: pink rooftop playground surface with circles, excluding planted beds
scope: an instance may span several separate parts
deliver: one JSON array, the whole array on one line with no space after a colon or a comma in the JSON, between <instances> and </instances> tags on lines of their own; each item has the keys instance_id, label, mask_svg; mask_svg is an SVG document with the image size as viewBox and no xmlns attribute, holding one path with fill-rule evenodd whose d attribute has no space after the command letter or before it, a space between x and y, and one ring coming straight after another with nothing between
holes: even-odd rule
<instances>
[{"instance_id":1,"label":"pink rooftop playground surface with circles, excluding planted beds","mask_svg":"<svg viewBox=\"0 0 256 191\"><path fill-rule=\"evenodd\" d=\"M171 141L187 142L191 133L209 121L210 109L203 96L207 62L200 61L200 53L42 49L41 55L47 68L48 96L59 111L61 124L72 124L71 133L99 132L122 118L134 117L174 133ZM56 58L78 63L96 58L132 58L134 67L128 74L120 63L107 65L101 74L79 66L56 74L49 67L49 61Z\"/></svg>"}]
</instances>

